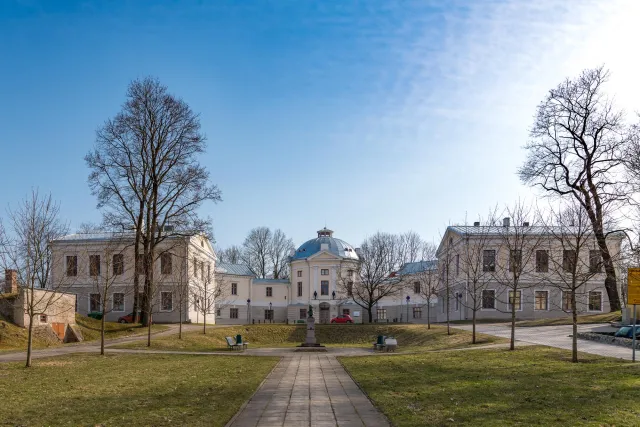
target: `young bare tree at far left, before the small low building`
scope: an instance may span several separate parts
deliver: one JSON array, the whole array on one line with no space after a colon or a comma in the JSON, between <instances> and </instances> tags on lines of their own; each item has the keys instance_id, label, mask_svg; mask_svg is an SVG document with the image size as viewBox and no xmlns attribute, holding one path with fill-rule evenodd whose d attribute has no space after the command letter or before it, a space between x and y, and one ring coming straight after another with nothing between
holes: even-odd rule
<instances>
[{"instance_id":1,"label":"young bare tree at far left, before the small low building","mask_svg":"<svg viewBox=\"0 0 640 427\"><path fill-rule=\"evenodd\" d=\"M59 214L60 206L51 195L41 196L37 190L8 212L11 235L5 235L0 255L3 267L17 272L18 286L24 290L24 312L29 319L26 367L31 366L34 320L55 308L69 286L65 281L51 280L54 260L49 242L68 232ZM41 289L49 292L40 292Z\"/></svg>"}]
</instances>

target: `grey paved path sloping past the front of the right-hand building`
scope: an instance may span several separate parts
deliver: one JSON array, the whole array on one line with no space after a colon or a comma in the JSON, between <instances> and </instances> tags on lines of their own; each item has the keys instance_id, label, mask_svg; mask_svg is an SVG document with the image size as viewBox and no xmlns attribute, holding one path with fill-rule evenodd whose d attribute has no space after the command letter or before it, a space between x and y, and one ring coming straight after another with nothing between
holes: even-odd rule
<instances>
[{"instance_id":1,"label":"grey paved path sloping past the front of the right-hand building","mask_svg":"<svg viewBox=\"0 0 640 427\"><path fill-rule=\"evenodd\" d=\"M456 328L470 331L472 327L471 325L456 325ZM592 330L615 331L615 328L611 328L606 324L578 325L578 332L589 332ZM511 337L511 327L507 324L478 324L476 325L476 331L497 337ZM516 341L571 350L572 333L571 325L516 327ZM599 356L631 360L631 348L603 344L595 341L578 339L578 351L597 354Z\"/></svg>"}]
</instances>

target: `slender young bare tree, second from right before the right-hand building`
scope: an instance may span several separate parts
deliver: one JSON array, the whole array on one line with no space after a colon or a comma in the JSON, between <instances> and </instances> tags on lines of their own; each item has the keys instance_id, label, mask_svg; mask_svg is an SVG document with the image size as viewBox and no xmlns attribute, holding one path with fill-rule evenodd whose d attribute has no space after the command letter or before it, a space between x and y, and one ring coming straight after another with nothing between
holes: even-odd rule
<instances>
[{"instance_id":1,"label":"slender young bare tree, second from right before the right-hand building","mask_svg":"<svg viewBox=\"0 0 640 427\"><path fill-rule=\"evenodd\" d=\"M517 201L505 209L506 218L501 226L494 227L498 236L498 250L494 255L493 279L507 291L507 303L511 312L510 350L515 349L516 312L522 305L523 290L539 283L536 274L536 251L546 238L544 227L531 206ZM513 221L513 224L511 224ZM483 260L487 263L487 260ZM489 261L489 265L492 263ZM491 270L491 268L489 268Z\"/></svg>"}]
</instances>

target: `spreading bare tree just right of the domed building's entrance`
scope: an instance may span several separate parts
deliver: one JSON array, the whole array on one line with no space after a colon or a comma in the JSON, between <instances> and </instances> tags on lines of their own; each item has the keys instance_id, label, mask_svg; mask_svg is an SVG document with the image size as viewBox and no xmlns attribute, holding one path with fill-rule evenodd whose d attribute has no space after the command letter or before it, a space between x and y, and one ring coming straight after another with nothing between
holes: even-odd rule
<instances>
[{"instance_id":1,"label":"spreading bare tree just right of the domed building's entrance","mask_svg":"<svg viewBox=\"0 0 640 427\"><path fill-rule=\"evenodd\" d=\"M401 265L398 240L396 235L378 232L360 246L358 263L340 266L336 283L339 292L367 310L369 323L373 322L373 307L378 301L402 291L402 280L395 275Z\"/></svg>"}]
</instances>

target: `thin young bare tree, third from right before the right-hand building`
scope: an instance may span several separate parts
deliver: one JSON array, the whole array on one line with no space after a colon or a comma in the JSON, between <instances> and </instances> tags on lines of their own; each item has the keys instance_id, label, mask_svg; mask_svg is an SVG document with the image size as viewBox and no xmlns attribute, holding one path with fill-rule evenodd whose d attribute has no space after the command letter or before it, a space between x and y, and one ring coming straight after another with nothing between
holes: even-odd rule
<instances>
[{"instance_id":1,"label":"thin young bare tree, third from right before the right-hand building","mask_svg":"<svg viewBox=\"0 0 640 427\"><path fill-rule=\"evenodd\" d=\"M463 246L460 249L460 269L466 280L466 297L462 305L471 310L472 334L471 342L476 343L477 314L483 307L484 291L491 283L491 268L486 265L485 251L491 250L491 228L495 224L494 216L489 215L486 221L480 219L473 227L466 227L462 236Z\"/></svg>"}]
</instances>

